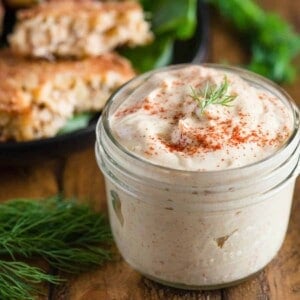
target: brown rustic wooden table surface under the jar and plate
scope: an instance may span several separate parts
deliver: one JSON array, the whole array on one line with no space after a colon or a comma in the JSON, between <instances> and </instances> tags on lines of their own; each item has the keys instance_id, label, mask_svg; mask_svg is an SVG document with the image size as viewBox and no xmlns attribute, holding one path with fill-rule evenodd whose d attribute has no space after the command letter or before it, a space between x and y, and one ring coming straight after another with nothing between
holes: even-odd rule
<instances>
[{"instance_id":1,"label":"brown rustic wooden table surface under the jar and plate","mask_svg":"<svg viewBox=\"0 0 300 300\"><path fill-rule=\"evenodd\" d=\"M263 7L280 12L300 32L298 0L260 0ZM211 15L209 61L239 64L247 60L238 35L215 12ZM287 91L300 104L300 78ZM94 158L93 145L66 159L57 159L27 167L0 168L0 200L18 196L43 197L63 192L88 202L96 210L105 210L103 179ZM48 287L49 299L70 300L158 300L158 299L300 299L300 180L296 184L294 204L287 237L278 256L256 277L238 286L189 292L166 288L141 277L120 258L96 271L70 278L59 288ZM280 222L280 220L278 220Z\"/></svg>"}]
</instances>

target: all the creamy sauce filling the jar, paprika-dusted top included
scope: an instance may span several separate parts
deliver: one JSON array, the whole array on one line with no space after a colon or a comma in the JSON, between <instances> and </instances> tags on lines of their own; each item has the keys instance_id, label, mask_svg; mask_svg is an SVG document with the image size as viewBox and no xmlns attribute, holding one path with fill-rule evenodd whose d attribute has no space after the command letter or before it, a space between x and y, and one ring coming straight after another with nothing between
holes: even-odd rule
<instances>
[{"instance_id":1,"label":"all the creamy sauce filling the jar, paprika-dusted top included","mask_svg":"<svg viewBox=\"0 0 300 300\"><path fill-rule=\"evenodd\" d=\"M224 76L228 95L237 96L232 106L211 105L201 114L191 87L219 86ZM261 87L190 66L151 76L109 116L118 142L155 165L224 170L273 158L243 170L164 172L124 159L103 138L97 157L112 232L133 268L170 285L214 288L254 274L276 255L289 220L299 132L287 151L274 155L294 119L291 108Z\"/></svg>"}]
</instances>

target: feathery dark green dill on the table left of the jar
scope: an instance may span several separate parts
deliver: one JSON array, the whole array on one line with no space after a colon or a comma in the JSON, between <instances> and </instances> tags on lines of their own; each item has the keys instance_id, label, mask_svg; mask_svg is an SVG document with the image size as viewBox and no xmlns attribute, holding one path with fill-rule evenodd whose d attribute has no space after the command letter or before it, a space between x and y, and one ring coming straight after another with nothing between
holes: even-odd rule
<instances>
[{"instance_id":1,"label":"feathery dark green dill on the table left of the jar","mask_svg":"<svg viewBox=\"0 0 300 300\"><path fill-rule=\"evenodd\" d=\"M0 260L0 299L9 291L30 299L36 283L59 283L59 278L17 259L43 258L52 268L77 274L111 259L103 247L111 241L105 217L71 199L55 196L0 204L0 257L8 258Z\"/></svg>"}]
</instances>

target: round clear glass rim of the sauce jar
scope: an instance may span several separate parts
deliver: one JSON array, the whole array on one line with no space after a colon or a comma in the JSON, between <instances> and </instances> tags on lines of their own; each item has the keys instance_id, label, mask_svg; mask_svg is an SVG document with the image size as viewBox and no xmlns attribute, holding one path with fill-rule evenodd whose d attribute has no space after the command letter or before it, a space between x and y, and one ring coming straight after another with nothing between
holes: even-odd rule
<instances>
[{"instance_id":1,"label":"round clear glass rim of the sauce jar","mask_svg":"<svg viewBox=\"0 0 300 300\"><path fill-rule=\"evenodd\" d=\"M180 69L180 68L185 68L185 67L193 66L193 65L214 68L214 69L223 70L223 71L226 71L229 73L233 73L233 74L239 75L246 81L249 81L251 78L253 82L256 82L257 84L259 84L262 87L271 88L273 92L276 92L276 94L279 94L280 100L281 101L282 101L282 99L285 100L285 105L286 106L288 105L287 108L290 110L290 112L292 113L292 116L293 116L293 131L292 131L291 135L289 136L289 138L285 141L285 143L282 144L281 147L275 153L272 153L272 154L268 155L267 157L265 157L259 161L256 161L254 163L250 163L250 164L243 165L240 167L229 168L229 169L205 170L205 171L181 170L181 169L175 169L175 168L170 168L170 167L166 167L166 166L161 166L161 165L155 164L149 160L143 159L142 157L136 155L133 152L130 152L128 149L126 149L126 147L124 147L121 143L119 143L119 141L115 138L115 136L112 134L112 132L110 130L109 117L110 117L110 111L111 111L112 105L114 103L114 100L120 95L120 93L122 93L124 90L126 90L127 87L134 84L135 82L143 81L143 80L149 78L153 74L164 72L167 70L176 70L176 69ZM257 165L262 165L265 163L267 164L270 161L272 161L272 159L274 159L274 157L277 157L277 156L281 155L283 152L285 152L286 149L288 148L288 146L296 139L296 137L298 135L300 136L300 128L299 128L300 117L299 117L299 115L300 115L300 112L299 112L299 108L298 108L297 104L284 89L282 89L279 85L277 85L273 81L271 81L261 75L258 75L254 72L245 70L240 67L226 66L226 65L214 64L214 63L177 64L177 65L172 65L172 66L167 66L164 68L152 70L152 71L146 72L144 74L138 75L138 76L134 77L133 79L131 79L130 81L128 81L127 83L125 83L124 85L122 85L115 93L113 93L110 96L110 98L108 99L108 101L103 109L102 115L97 122L96 138L97 138L97 143L100 143L99 133L100 133L100 127L102 124L105 133L107 134L110 141L117 147L117 149L121 150L122 153L124 153L128 158L131 158L133 161L137 162L138 164L144 164L144 165L147 165L147 167L151 167L156 170L172 172L172 173L175 172L176 174L181 174L181 175L203 173L203 174L207 174L208 176L214 176L215 174L218 174L220 176L222 174L228 175L228 173L232 174L234 172L243 171L246 169L252 169L252 168L255 168Z\"/></svg>"}]
</instances>

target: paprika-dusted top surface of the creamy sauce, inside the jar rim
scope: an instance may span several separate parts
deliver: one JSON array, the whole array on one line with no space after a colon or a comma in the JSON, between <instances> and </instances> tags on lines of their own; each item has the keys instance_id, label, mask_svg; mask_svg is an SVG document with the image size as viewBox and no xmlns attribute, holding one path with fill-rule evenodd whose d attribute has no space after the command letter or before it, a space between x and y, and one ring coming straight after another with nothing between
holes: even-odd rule
<instances>
[{"instance_id":1,"label":"paprika-dusted top surface of the creamy sauce, inside the jar rim","mask_svg":"<svg viewBox=\"0 0 300 300\"><path fill-rule=\"evenodd\" d=\"M230 106L209 105L200 113L192 89L220 86L225 77ZM189 66L154 74L110 119L120 144L151 163L182 170L222 170L275 153L292 131L292 117L270 93L236 75Z\"/></svg>"}]
</instances>

